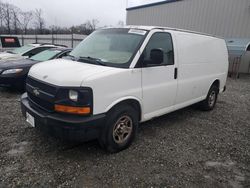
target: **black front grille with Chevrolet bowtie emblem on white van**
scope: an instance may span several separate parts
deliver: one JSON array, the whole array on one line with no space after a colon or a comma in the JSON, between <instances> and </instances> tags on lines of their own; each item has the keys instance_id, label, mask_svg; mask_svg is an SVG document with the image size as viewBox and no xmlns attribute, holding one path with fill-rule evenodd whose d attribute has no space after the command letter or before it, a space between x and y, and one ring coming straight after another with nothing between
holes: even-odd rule
<instances>
[{"instance_id":1,"label":"black front grille with Chevrolet bowtie emblem on white van","mask_svg":"<svg viewBox=\"0 0 250 188\"><path fill-rule=\"evenodd\" d=\"M48 112L54 111L54 101L57 93L57 88L55 86L28 77L26 81L26 90L31 105Z\"/></svg>"}]
</instances>

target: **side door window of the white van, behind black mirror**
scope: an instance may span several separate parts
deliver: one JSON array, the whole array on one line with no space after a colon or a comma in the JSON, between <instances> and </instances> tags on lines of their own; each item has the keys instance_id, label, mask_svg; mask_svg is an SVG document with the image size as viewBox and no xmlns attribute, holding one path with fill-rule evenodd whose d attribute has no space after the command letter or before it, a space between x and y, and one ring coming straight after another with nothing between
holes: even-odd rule
<instances>
[{"instance_id":1,"label":"side door window of the white van, behind black mirror","mask_svg":"<svg viewBox=\"0 0 250 188\"><path fill-rule=\"evenodd\" d=\"M172 37L159 32L152 35L142 54L143 67L174 64Z\"/></svg>"}]
</instances>

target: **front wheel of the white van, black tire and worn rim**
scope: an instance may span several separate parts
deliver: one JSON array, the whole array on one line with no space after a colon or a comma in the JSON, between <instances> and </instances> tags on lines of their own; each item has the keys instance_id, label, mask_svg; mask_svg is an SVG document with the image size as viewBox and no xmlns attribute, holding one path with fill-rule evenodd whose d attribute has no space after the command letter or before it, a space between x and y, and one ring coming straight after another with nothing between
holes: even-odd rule
<instances>
[{"instance_id":1,"label":"front wheel of the white van, black tire and worn rim","mask_svg":"<svg viewBox=\"0 0 250 188\"><path fill-rule=\"evenodd\" d=\"M125 125L123 122L127 122L127 124ZM128 148L136 137L138 124L138 112L133 107L129 105L116 106L107 114L105 129L99 138L100 145L110 153ZM130 130L130 133L124 133Z\"/></svg>"}]
</instances>

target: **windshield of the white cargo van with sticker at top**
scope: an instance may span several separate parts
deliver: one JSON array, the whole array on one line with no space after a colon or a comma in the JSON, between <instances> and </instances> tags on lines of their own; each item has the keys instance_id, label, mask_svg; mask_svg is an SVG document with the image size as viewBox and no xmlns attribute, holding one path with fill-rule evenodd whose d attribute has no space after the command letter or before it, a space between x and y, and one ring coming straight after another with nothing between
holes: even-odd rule
<instances>
[{"instance_id":1,"label":"windshield of the white cargo van with sticker at top","mask_svg":"<svg viewBox=\"0 0 250 188\"><path fill-rule=\"evenodd\" d=\"M70 56L86 63L128 68L146 33L126 28L98 30L83 40Z\"/></svg>"}]
</instances>

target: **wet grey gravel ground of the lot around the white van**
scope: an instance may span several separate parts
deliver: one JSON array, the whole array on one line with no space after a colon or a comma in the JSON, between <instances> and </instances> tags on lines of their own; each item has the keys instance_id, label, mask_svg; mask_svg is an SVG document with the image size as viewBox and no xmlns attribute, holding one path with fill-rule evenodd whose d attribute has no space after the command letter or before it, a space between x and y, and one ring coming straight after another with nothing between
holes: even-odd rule
<instances>
[{"instance_id":1,"label":"wet grey gravel ground of the lot around the white van","mask_svg":"<svg viewBox=\"0 0 250 188\"><path fill-rule=\"evenodd\" d=\"M144 123L112 155L29 128L19 98L0 90L0 187L250 187L250 76L229 79L215 110Z\"/></svg>"}]
</instances>

